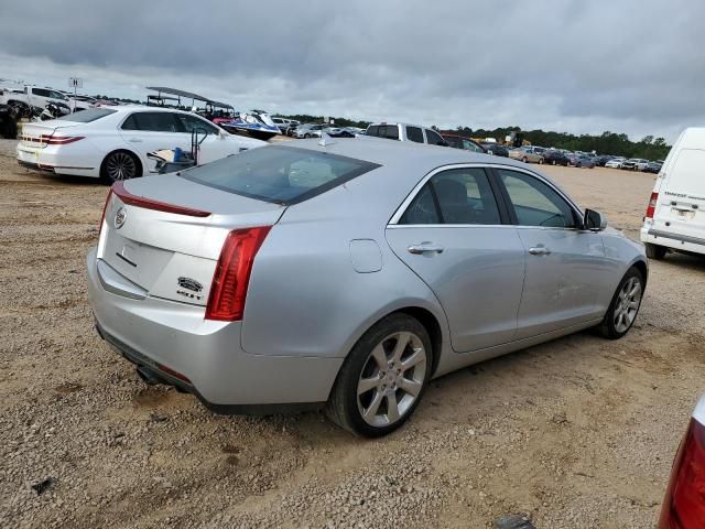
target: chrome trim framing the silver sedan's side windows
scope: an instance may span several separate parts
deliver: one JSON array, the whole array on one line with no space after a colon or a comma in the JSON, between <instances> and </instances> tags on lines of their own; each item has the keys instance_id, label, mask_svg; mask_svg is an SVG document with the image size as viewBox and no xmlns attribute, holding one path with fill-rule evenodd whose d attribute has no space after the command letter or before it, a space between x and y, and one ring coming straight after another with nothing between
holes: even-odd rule
<instances>
[{"instance_id":1,"label":"chrome trim framing the silver sedan's side windows","mask_svg":"<svg viewBox=\"0 0 705 529\"><path fill-rule=\"evenodd\" d=\"M425 129L424 129L425 131ZM431 171L430 173L427 173L423 179L421 179L419 181L419 183L411 190L411 193L409 193L409 195L406 195L406 198L404 198L404 201L401 203L401 205L397 208L397 210L394 212L394 214L392 215L392 217L389 219L389 222L387 223L388 227L400 227L400 226L410 226L410 227L434 227L434 226L440 226L440 227L470 227L470 226L482 226L482 227L487 227L487 226L494 226L494 227L500 227L500 226L510 226L512 228L531 228L531 229L563 229L563 230L572 230L572 231L584 231L582 229L578 228L561 228L561 227L556 227L556 226L525 226L525 225L521 225L521 224L500 224L500 225L494 225L494 224L399 224L399 220L401 219L401 216L404 214L404 212L406 210L406 208L411 205L411 203L413 202L413 199L416 197L416 195L419 194L419 192L423 188L424 185L426 185L426 182L429 182L429 180L431 180L433 176L435 176L438 173L442 173L444 171L451 171L454 169L505 169L505 170L509 170L509 171L517 171L519 173L524 173L529 176L533 176L534 179L539 179L542 183L544 183L545 185L547 185L549 187L551 187L553 191L555 191L558 196L561 196L565 202L568 203L568 205L575 210L575 213L578 215L579 218L583 218L583 210L568 197L566 196L565 193L563 193L558 187L555 186L555 184L553 184L551 181L549 181L546 177L542 176L539 173L534 173L533 171L530 171L528 169L524 168L518 168L516 165L508 165L508 164L503 164L501 162L499 163L451 163L448 165L441 165L440 168L434 169L433 171ZM499 207L499 204L497 205L497 207Z\"/></svg>"}]
</instances>

